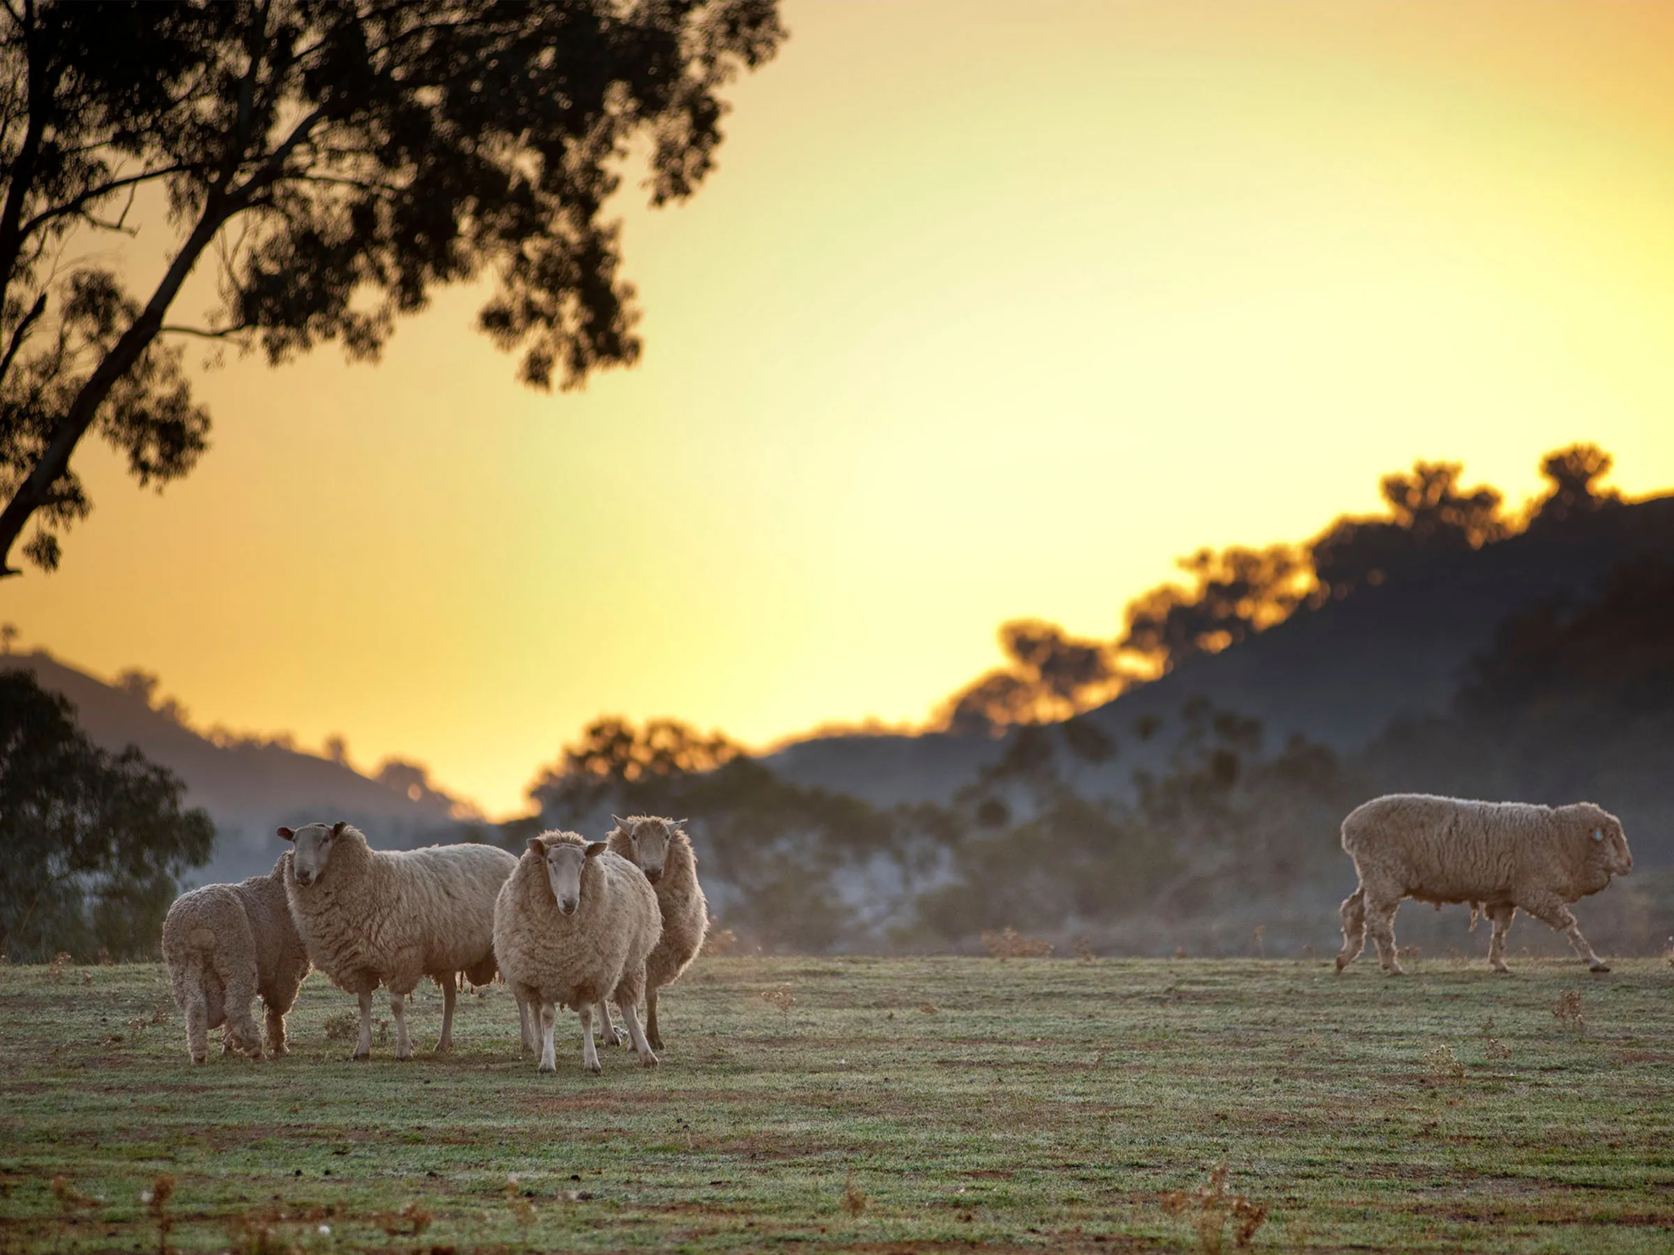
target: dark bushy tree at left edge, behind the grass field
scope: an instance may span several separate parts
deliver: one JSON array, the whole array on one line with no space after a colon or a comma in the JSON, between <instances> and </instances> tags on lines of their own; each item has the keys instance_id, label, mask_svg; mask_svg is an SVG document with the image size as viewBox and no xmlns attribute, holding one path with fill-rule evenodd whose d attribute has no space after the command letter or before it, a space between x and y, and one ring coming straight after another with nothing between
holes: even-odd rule
<instances>
[{"instance_id":1,"label":"dark bushy tree at left edge, behind the grass field","mask_svg":"<svg viewBox=\"0 0 1674 1255\"><path fill-rule=\"evenodd\" d=\"M0 952L154 954L177 877L214 845L184 790L136 746L94 745L33 673L0 673Z\"/></svg>"}]
</instances>

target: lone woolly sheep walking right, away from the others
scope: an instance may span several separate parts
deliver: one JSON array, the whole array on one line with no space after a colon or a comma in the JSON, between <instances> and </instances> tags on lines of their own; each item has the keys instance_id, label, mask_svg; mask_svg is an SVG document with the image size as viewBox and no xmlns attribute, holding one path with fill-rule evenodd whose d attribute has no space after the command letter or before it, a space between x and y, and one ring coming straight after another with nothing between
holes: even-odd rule
<instances>
[{"instance_id":1,"label":"lone woolly sheep walking right, away from the others","mask_svg":"<svg viewBox=\"0 0 1674 1255\"><path fill-rule=\"evenodd\" d=\"M1359 885L1339 912L1339 972L1359 957L1371 932L1383 971L1401 976L1394 910L1404 897L1435 902L1436 910L1443 902L1466 902L1473 929L1485 910L1493 922L1488 962L1495 972L1512 971L1505 932L1518 909L1569 935L1592 971L1610 971L1565 905L1634 870L1622 823L1590 802L1552 808L1393 793L1343 820L1343 848Z\"/></svg>"}]
</instances>

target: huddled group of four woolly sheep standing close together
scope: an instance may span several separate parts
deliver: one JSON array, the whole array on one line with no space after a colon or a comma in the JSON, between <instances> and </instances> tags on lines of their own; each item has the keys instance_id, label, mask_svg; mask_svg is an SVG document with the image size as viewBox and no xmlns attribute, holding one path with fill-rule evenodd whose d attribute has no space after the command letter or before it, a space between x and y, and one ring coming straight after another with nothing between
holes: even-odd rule
<instances>
[{"instance_id":1,"label":"huddled group of four woolly sheep standing close together","mask_svg":"<svg viewBox=\"0 0 1674 1255\"><path fill-rule=\"evenodd\" d=\"M593 1011L609 1041L629 1041L656 1066L663 1041L656 991L696 957L708 929L698 860L683 820L616 820L604 842L573 832L529 838L517 858L494 845L373 850L348 823L280 828L293 843L264 877L182 894L162 922L162 957L186 1012L193 1063L221 1049L261 1058L249 1014L259 994L268 1051L286 1053L285 1016L310 967L360 999L355 1058L372 1054L372 994L383 986L395 1058L410 1059L407 996L442 987L442 1037L454 1044L455 974L477 986L496 974L517 999L522 1044L557 1071L557 1007L581 1012L583 1063L598 1073ZM639 1002L646 1024L639 1024ZM621 1011L619 1032L608 1002Z\"/></svg>"}]
</instances>

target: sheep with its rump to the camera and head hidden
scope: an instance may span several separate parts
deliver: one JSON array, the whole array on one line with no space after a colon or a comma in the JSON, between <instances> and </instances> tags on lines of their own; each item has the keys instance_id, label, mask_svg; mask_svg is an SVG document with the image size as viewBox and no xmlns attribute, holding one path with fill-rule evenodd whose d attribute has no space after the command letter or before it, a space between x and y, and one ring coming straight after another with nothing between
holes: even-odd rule
<instances>
[{"instance_id":1,"label":"sheep with its rump to the camera and head hidden","mask_svg":"<svg viewBox=\"0 0 1674 1255\"><path fill-rule=\"evenodd\" d=\"M285 1016L308 976L308 950L285 900L290 850L268 875L236 885L204 885L181 894L162 919L162 959L174 1002L186 1012L186 1049L193 1063L209 1054L209 1029L224 1027L221 1053L261 1058L261 1032L249 999L261 996L268 1053L288 1054Z\"/></svg>"}]
</instances>

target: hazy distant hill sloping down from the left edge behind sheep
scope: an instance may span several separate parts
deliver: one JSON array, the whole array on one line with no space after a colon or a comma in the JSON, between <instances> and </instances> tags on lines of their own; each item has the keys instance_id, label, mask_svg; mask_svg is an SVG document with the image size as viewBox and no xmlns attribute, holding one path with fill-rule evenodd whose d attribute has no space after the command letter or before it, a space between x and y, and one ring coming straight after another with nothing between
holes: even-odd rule
<instances>
[{"instance_id":1,"label":"hazy distant hill sloping down from the left edge behind sheep","mask_svg":"<svg viewBox=\"0 0 1674 1255\"><path fill-rule=\"evenodd\" d=\"M275 837L281 823L350 820L382 847L457 838L459 823L445 802L413 802L341 763L280 745L216 745L47 653L0 654L0 668L33 671L42 688L69 698L97 745L137 745L186 781L187 805L208 810L219 833L213 862L193 873L198 884L266 872L283 848Z\"/></svg>"}]
</instances>

